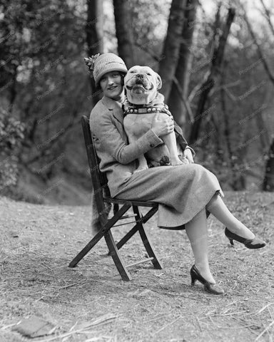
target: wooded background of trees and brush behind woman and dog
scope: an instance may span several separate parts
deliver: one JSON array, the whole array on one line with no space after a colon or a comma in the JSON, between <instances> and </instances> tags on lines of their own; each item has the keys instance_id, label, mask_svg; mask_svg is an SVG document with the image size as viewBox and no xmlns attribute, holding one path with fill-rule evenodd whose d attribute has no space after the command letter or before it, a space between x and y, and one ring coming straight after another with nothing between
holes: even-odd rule
<instances>
[{"instance_id":1,"label":"wooded background of trees and brush behind woman and dog","mask_svg":"<svg viewBox=\"0 0 274 342\"><path fill-rule=\"evenodd\" d=\"M83 58L163 79L196 162L224 190L274 191L273 1L1 0L0 191L88 204L81 131L101 94Z\"/></svg>"}]
</instances>

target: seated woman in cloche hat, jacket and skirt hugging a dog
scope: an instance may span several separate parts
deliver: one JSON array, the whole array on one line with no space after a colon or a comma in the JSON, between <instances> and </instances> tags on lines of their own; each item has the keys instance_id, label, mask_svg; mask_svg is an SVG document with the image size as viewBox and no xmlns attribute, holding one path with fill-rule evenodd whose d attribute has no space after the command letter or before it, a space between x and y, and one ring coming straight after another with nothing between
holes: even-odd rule
<instances>
[{"instance_id":1,"label":"seated woman in cloche hat, jacket and skirt hugging a dog","mask_svg":"<svg viewBox=\"0 0 274 342\"><path fill-rule=\"evenodd\" d=\"M161 137L174 129L173 120L155 120L151 130L136 142L128 144L123 130L122 104L125 100L123 76L125 63L114 53L103 53L86 60L103 98L91 111L91 134L100 158L100 170L106 172L112 197L159 203L158 226L186 229L195 264L191 268L191 284L200 281L211 294L224 294L210 272L208 264L208 232L206 210L227 227L225 235L245 244L261 248L265 242L238 221L223 203L217 178L203 166L193 163L190 147L183 156L188 164L153 167L134 172L136 159L162 142ZM184 227L183 227L184 226Z\"/></svg>"}]
</instances>

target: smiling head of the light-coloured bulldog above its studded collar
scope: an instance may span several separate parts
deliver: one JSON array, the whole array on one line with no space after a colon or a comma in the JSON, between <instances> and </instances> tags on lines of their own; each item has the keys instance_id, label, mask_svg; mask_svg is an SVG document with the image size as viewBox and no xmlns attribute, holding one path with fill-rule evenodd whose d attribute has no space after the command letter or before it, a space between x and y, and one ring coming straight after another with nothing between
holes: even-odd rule
<instances>
[{"instance_id":1,"label":"smiling head of the light-coloured bulldog above its studded collar","mask_svg":"<svg viewBox=\"0 0 274 342\"><path fill-rule=\"evenodd\" d=\"M161 77L148 66L133 66L124 78L126 95L130 103L146 105L156 98L161 89Z\"/></svg>"}]
</instances>

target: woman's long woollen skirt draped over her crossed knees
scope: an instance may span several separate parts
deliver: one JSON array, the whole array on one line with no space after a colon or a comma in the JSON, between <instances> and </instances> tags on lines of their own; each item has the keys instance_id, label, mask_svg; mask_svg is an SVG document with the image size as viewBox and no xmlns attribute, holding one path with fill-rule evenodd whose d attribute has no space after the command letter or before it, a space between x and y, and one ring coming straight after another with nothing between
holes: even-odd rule
<instances>
[{"instance_id":1,"label":"woman's long woollen skirt draped over her crossed knees","mask_svg":"<svg viewBox=\"0 0 274 342\"><path fill-rule=\"evenodd\" d=\"M158 227L184 229L215 194L223 196L212 172L198 164L184 164L135 172L115 198L157 202Z\"/></svg>"}]
</instances>

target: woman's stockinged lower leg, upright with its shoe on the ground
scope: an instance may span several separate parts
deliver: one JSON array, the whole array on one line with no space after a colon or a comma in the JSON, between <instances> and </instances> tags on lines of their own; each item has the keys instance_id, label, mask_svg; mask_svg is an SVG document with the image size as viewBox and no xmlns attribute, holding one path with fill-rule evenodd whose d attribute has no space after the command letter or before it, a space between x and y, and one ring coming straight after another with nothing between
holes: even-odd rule
<instances>
[{"instance_id":1,"label":"woman's stockinged lower leg, upright with its shoe on the ground","mask_svg":"<svg viewBox=\"0 0 274 342\"><path fill-rule=\"evenodd\" d=\"M195 265L201 276L210 283L215 284L215 280L210 272L208 264L208 227L206 222L205 209L186 223L186 234L191 242Z\"/></svg>"}]
</instances>

